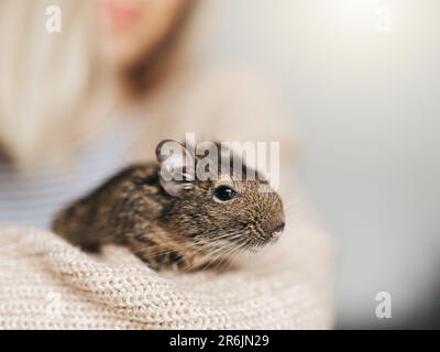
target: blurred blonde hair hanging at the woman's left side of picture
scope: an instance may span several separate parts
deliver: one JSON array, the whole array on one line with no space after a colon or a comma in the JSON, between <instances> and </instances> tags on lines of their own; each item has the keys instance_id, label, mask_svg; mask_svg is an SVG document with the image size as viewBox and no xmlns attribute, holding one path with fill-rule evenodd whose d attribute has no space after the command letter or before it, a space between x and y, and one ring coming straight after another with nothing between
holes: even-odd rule
<instances>
[{"instance_id":1,"label":"blurred blonde hair hanging at the woman's left side of picture","mask_svg":"<svg viewBox=\"0 0 440 352\"><path fill-rule=\"evenodd\" d=\"M61 33L46 31L50 6L62 10ZM87 0L1 1L0 148L16 164L59 157L78 133L73 119L110 108L92 34Z\"/></svg>"}]
</instances>

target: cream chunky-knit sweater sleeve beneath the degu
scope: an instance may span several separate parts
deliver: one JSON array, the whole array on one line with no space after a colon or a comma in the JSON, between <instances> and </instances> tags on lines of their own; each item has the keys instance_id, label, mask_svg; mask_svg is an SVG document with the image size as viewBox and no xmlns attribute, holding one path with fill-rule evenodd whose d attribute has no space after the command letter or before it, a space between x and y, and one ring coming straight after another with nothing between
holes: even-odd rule
<instances>
[{"instance_id":1,"label":"cream chunky-knit sweater sleeve beneath the degu","mask_svg":"<svg viewBox=\"0 0 440 352\"><path fill-rule=\"evenodd\" d=\"M90 255L55 234L0 228L0 329L326 329L331 245L304 211L275 246L227 274L162 274L122 248Z\"/></svg>"}]
</instances>

